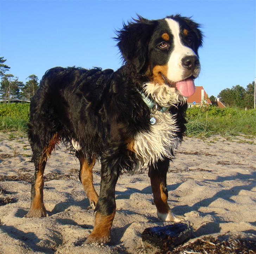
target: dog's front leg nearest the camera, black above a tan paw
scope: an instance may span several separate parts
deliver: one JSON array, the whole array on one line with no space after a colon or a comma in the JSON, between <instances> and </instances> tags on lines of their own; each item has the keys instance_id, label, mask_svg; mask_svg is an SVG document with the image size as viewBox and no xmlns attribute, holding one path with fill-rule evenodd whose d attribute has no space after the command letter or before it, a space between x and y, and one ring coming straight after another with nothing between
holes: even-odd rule
<instances>
[{"instance_id":1,"label":"dog's front leg nearest the camera, black above a tan paw","mask_svg":"<svg viewBox=\"0 0 256 254\"><path fill-rule=\"evenodd\" d=\"M110 240L110 229L116 213L115 186L121 165L117 155L108 151L101 160L101 190L95 210L94 229L86 242L105 243Z\"/></svg>"}]
</instances>

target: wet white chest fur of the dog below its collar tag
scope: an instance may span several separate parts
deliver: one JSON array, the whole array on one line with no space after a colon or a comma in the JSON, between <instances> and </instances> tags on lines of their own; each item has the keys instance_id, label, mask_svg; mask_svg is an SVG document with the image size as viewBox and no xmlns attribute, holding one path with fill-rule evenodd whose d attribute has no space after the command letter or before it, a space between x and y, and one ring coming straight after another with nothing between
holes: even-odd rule
<instances>
[{"instance_id":1,"label":"wet white chest fur of the dog below its collar tag","mask_svg":"<svg viewBox=\"0 0 256 254\"><path fill-rule=\"evenodd\" d=\"M139 167L148 167L158 159L173 158L173 152L181 142L176 132L179 131L176 118L169 112L156 111L156 123L149 132L139 132L135 136L134 151Z\"/></svg>"}]
</instances>

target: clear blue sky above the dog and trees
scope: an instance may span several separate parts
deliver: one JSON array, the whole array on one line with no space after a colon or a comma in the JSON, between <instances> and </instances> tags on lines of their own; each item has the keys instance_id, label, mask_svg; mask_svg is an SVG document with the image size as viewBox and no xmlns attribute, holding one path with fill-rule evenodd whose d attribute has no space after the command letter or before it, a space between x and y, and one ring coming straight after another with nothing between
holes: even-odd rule
<instances>
[{"instance_id":1,"label":"clear blue sky above the dog and trees","mask_svg":"<svg viewBox=\"0 0 256 254\"><path fill-rule=\"evenodd\" d=\"M209 96L255 78L256 1L11 1L0 0L0 56L26 82L55 66L118 69L114 30L136 13L161 19L180 13L202 24L201 73Z\"/></svg>"}]
</instances>

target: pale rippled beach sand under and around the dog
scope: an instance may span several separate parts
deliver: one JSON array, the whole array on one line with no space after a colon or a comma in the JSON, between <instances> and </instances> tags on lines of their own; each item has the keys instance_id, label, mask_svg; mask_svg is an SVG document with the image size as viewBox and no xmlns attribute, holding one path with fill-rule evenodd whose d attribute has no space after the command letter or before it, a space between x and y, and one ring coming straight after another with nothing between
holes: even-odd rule
<instances>
[{"instance_id":1,"label":"pale rippled beach sand under and around the dog","mask_svg":"<svg viewBox=\"0 0 256 254\"><path fill-rule=\"evenodd\" d=\"M187 217L193 237L256 235L255 144L246 136L185 138L176 151L167 174L168 203L175 214ZM123 174L116 185L110 244L85 244L94 214L78 179L79 161L63 145L45 169L49 217L24 218L34 172L30 159L26 137L0 133L0 253L146 253L143 230L168 224L157 218L147 173ZM93 176L99 193L99 164Z\"/></svg>"}]
</instances>

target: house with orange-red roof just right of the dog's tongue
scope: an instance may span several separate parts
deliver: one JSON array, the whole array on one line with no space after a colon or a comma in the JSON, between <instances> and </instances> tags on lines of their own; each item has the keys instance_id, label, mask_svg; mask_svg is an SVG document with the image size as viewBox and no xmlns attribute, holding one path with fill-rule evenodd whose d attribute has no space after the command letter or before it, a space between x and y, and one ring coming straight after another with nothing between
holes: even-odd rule
<instances>
[{"instance_id":1,"label":"house with orange-red roof just right of the dog's tongue","mask_svg":"<svg viewBox=\"0 0 256 254\"><path fill-rule=\"evenodd\" d=\"M212 105L212 102L203 87L196 87L194 94L187 97L187 107L200 107L202 104Z\"/></svg>"}]
</instances>

